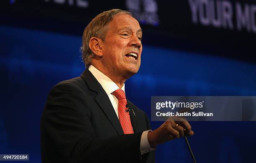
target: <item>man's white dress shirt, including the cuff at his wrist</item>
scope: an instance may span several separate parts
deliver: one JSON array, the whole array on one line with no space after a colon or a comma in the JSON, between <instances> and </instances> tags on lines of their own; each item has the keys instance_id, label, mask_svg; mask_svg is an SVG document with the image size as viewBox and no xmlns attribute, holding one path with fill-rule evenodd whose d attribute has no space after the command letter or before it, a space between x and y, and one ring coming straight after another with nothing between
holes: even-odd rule
<instances>
[{"instance_id":1,"label":"man's white dress shirt, including the cuff at his wrist","mask_svg":"<svg viewBox=\"0 0 256 163\"><path fill-rule=\"evenodd\" d=\"M113 108L115 110L116 116L118 117L118 99L111 93L119 89L119 87L115 84L114 81L112 81L109 77L107 77L105 74L100 72L94 66L90 65L89 71L97 79L97 81L100 83L102 88L107 93L108 98L110 99L110 102L113 105ZM123 84L123 87L121 89L125 92L125 84ZM148 131L151 131L151 130L148 130ZM154 150L154 148L151 148L148 143L148 131L143 131L141 135L141 145L140 145L141 154L148 153Z\"/></svg>"}]
</instances>

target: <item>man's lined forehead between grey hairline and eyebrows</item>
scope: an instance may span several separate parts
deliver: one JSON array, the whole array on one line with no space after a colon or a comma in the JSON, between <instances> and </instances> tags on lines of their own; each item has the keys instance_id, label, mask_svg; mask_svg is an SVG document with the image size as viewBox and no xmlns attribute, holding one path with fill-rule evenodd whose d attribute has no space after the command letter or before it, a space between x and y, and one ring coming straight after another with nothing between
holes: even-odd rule
<instances>
[{"instance_id":1,"label":"man's lined forehead between grey hairline and eyebrows","mask_svg":"<svg viewBox=\"0 0 256 163\"><path fill-rule=\"evenodd\" d=\"M141 30L138 21L128 14L115 15L113 20L110 22L109 27L112 28L115 32L118 32L118 30L123 28L129 28L133 32Z\"/></svg>"}]
</instances>

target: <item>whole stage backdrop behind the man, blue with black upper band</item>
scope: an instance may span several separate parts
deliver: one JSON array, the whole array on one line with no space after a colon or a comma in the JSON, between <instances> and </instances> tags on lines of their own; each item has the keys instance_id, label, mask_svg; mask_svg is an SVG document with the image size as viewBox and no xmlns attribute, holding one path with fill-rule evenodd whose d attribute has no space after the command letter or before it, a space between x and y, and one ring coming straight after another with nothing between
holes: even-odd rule
<instances>
[{"instance_id":1,"label":"whole stage backdrop behind the man, blue with black upper band","mask_svg":"<svg viewBox=\"0 0 256 163\"><path fill-rule=\"evenodd\" d=\"M79 52L83 28L96 13L105 9L94 10L89 0L63 0L63 4L58 3L60 0L38 1L41 9L33 2L22 5L21 1L11 0L1 5L5 10L1 10L3 14L0 15L3 18L0 22L0 154L30 154L31 163L40 163L39 124L47 95L59 81L83 72L85 67ZM92 8L85 7L86 3L82 2L88 2ZM113 7L125 5L123 9L129 9L128 0L116 2ZM144 32L142 62L138 74L125 83L128 99L150 117L151 96L256 96L256 60L251 55L255 50L250 44L255 38L252 28L250 31L244 27L237 30L235 18L232 18L233 29L207 26L202 24L206 17L200 22L200 8L195 23L190 0L168 6L163 2L151 2L155 7L157 4L157 12L152 12L157 13L159 21L140 20ZM197 2L199 7L200 2L217 4L213 0L191 2ZM229 1L221 2L229 6ZM234 1L230 3L236 13L239 6ZM253 2L239 3L244 7L243 13L247 10L246 5L250 13L254 12ZM140 10L145 8L140 7ZM168 11L176 10L180 15L168 15ZM80 12L86 13L82 16ZM77 19L72 19L74 17ZM161 124L151 122L153 129ZM191 122L191 125L195 135L189 137L189 141L199 163L256 162L255 122ZM192 163L184 139L159 145L156 162Z\"/></svg>"}]
</instances>

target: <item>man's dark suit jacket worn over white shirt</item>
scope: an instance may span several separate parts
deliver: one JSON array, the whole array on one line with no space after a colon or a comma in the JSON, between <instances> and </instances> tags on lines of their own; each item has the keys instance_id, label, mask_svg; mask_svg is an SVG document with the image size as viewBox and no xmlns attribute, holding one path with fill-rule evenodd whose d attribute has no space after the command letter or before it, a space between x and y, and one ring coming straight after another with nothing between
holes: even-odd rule
<instances>
[{"instance_id":1,"label":"man's dark suit jacket worn over white shirt","mask_svg":"<svg viewBox=\"0 0 256 163\"><path fill-rule=\"evenodd\" d=\"M43 163L151 163L154 151L140 153L147 115L128 101L134 134L124 135L100 83L86 69L80 77L61 81L50 91L41 118Z\"/></svg>"}]
</instances>

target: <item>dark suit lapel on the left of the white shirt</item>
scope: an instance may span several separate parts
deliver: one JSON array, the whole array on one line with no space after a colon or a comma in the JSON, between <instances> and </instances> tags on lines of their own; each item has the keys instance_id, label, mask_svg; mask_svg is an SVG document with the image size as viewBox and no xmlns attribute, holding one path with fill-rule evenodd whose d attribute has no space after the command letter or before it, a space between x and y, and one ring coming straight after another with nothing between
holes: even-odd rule
<instances>
[{"instance_id":1,"label":"dark suit lapel on the left of the white shirt","mask_svg":"<svg viewBox=\"0 0 256 163\"><path fill-rule=\"evenodd\" d=\"M117 133L119 135L123 135L123 129L115 114L115 110L110 102L110 99L108 98L108 95L106 94L100 83L92 75L89 69L85 69L84 72L81 74L81 77L86 81L88 87L91 90L97 92L97 95L95 96L95 101L99 104L102 111L108 117L108 120L113 125Z\"/></svg>"}]
</instances>

